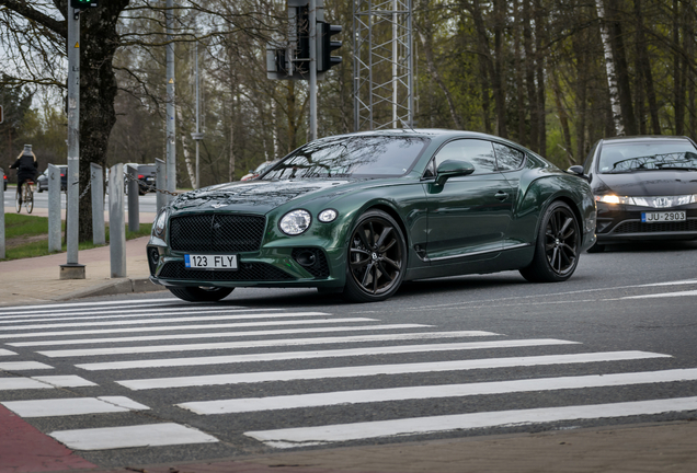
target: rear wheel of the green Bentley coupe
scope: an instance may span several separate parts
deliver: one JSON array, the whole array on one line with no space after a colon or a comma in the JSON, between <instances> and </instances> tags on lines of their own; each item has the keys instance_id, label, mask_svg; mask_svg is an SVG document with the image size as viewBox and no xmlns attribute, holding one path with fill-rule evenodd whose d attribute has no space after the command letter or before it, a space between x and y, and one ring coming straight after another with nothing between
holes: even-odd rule
<instances>
[{"instance_id":1,"label":"rear wheel of the green Bentley coupe","mask_svg":"<svg viewBox=\"0 0 697 473\"><path fill-rule=\"evenodd\" d=\"M521 275L530 282L561 282L579 264L581 231L571 208L553 201L545 211L535 242L535 256Z\"/></svg>"}]
</instances>

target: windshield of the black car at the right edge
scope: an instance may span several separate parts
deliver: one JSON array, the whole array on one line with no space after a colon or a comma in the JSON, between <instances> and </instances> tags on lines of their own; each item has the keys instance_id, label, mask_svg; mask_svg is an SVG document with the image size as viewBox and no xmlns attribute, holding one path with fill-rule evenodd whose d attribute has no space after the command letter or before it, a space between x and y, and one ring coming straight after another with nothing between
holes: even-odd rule
<instances>
[{"instance_id":1,"label":"windshield of the black car at the right edge","mask_svg":"<svg viewBox=\"0 0 697 473\"><path fill-rule=\"evenodd\" d=\"M660 170L697 170L697 149L688 140L603 143L603 174Z\"/></svg>"}]
</instances>

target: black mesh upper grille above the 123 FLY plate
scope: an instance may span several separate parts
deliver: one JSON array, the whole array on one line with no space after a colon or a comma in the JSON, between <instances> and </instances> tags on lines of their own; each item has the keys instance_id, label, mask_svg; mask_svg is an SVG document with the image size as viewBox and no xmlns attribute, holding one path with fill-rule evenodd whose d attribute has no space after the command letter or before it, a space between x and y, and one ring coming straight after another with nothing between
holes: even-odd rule
<instances>
[{"instance_id":1,"label":"black mesh upper grille above the 123 FLY plate","mask_svg":"<svg viewBox=\"0 0 697 473\"><path fill-rule=\"evenodd\" d=\"M259 251L266 219L256 216L202 214L170 220L170 246L184 252Z\"/></svg>"}]
</instances>

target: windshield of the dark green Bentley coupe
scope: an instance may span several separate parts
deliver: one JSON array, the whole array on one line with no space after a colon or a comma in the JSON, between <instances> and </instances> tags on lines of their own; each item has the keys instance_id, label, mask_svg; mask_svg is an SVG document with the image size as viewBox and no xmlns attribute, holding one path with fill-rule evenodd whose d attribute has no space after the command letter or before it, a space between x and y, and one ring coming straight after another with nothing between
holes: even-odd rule
<instances>
[{"instance_id":1,"label":"windshield of the dark green Bentley coupe","mask_svg":"<svg viewBox=\"0 0 697 473\"><path fill-rule=\"evenodd\" d=\"M261 178L397 177L407 174L426 143L400 136L322 139L298 148Z\"/></svg>"}]
</instances>

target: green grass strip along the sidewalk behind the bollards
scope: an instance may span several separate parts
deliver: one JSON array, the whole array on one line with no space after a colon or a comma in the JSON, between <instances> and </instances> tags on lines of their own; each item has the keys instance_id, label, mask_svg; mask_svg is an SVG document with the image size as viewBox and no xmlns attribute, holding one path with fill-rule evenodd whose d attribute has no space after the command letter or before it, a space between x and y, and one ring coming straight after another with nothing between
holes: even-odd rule
<instances>
[{"instance_id":1,"label":"green grass strip along the sidewalk behind the bollards","mask_svg":"<svg viewBox=\"0 0 697 473\"><path fill-rule=\"evenodd\" d=\"M31 217L15 214L5 214L5 243L7 239L16 236L36 236L46 235L45 240L35 241L31 243L21 244L13 247L7 247L4 251L4 259L21 259L35 256L46 256L54 253L64 253L67 251L66 243L62 243L60 252L48 251L48 218L47 217ZM61 224L65 230L65 222ZM137 232L128 231L126 226L126 240L133 240L139 236L147 236L150 234L152 223L140 223L140 229ZM62 234L62 231L61 231ZM108 224L106 226L106 241L108 242ZM81 242L78 244L79 250L90 250L100 245L95 245L91 241Z\"/></svg>"}]
</instances>

